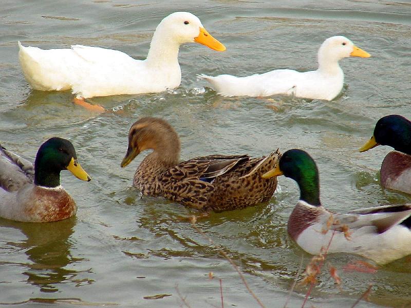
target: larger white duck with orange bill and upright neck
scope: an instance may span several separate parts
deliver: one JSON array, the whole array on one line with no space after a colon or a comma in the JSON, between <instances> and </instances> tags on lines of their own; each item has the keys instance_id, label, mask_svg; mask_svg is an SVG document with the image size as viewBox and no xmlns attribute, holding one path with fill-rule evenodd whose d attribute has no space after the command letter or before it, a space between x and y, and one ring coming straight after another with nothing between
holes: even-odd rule
<instances>
[{"instance_id":1,"label":"larger white duck with orange bill and upright neck","mask_svg":"<svg viewBox=\"0 0 411 308\"><path fill-rule=\"evenodd\" d=\"M196 42L217 51L226 47L204 29L197 16L175 12L153 34L147 59L135 60L113 49L71 46L42 50L18 42L23 73L33 89L71 89L77 99L116 94L161 92L181 82L179 47Z\"/></svg>"}]
</instances>

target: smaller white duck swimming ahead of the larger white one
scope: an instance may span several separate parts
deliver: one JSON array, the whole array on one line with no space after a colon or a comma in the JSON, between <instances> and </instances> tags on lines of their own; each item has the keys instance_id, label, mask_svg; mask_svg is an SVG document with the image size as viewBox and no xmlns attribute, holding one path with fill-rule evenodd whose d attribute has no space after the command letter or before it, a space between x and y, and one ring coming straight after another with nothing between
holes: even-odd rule
<instances>
[{"instance_id":1,"label":"smaller white duck swimming ahead of the larger white one","mask_svg":"<svg viewBox=\"0 0 411 308\"><path fill-rule=\"evenodd\" d=\"M341 92L344 84L344 72L338 62L349 56L370 55L354 46L347 37L332 36L324 41L318 51L319 67L315 71L277 69L246 77L226 74L199 76L210 82L218 94L225 96L267 97L286 94L297 98L331 101Z\"/></svg>"}]
</instances>

